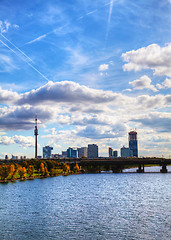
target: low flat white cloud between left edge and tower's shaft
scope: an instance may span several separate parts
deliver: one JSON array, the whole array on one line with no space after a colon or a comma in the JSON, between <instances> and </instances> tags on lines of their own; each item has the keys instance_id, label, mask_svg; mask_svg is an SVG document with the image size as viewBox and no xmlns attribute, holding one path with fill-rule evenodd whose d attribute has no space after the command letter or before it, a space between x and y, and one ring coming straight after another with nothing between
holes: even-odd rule
<instances>
[{"instance_id":1,"label":"low flat white cloud between left edge and tower's shaft","mask_svg":"<svg viewBox=\"0 0 171 240\"><path fill-rule=\"evenodd\" d=\"M22 147L33 147L34 146L34 137L25 137L20 135L14 135L13 137L0 136L0 144L2 145L11 145L18 144Z\"/></svg>"}]
</instances>

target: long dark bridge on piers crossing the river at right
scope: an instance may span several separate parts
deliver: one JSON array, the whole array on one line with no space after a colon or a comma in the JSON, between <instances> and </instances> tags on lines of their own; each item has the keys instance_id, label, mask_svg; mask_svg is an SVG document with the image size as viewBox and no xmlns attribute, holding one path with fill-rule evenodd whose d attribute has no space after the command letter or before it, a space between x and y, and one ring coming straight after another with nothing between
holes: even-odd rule
<instances>
[{"instance_id":1,"label":"long dark bridge on piers crossing the river at right","mask_svg":"<svg viewBox=\"0 0 171 240\"><path fill-rule=\"evenodd\" d=\"M138 167L137 172L144 172L145 165L159 165L160 172L166 173L167 165L171 165L171 159L165 158L97 158L97 159L70 159L66 163L78 163L79 166L87 171L100 172L101 170L112 170L113 172L122 172L129 167Z\"/></svg>"}]
</instances>

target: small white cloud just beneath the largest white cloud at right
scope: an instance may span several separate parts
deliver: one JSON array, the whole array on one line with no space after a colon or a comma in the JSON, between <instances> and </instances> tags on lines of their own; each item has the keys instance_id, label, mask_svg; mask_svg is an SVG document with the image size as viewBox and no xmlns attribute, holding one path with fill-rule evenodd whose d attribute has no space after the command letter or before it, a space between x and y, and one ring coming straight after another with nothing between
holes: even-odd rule
<instances>
[{"instance_id":1,"label":"small white cloud just beneath the largest white cloud at right","mask_svg":"<svg viewBox=\"0 0 171 240\"><path fill-rule=\"evenodd\" d=\"M151 85L151 79L147 75L144 75L139 79L129 82L129 84L131 84L134 89L141 90L146 88L146 89L151 89L153 92L158 91L153 85Z\"/></svg>"}]
</instances>

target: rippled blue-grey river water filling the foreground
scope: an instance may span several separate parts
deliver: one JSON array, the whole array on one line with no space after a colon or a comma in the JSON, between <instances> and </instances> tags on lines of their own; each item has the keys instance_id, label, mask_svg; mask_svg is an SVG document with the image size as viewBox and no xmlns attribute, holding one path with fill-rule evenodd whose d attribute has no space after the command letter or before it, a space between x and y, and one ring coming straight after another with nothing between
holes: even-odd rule
<instances>
[{"instance_id":1,"label":"rippled blue-grey river water filling the foreground","mask_svg":"<svg viewBox=\"0 0 171 240\"><path fill-rule=\"evenodd\" d=\"M0 240L171 239L171 173L0 184Z\"/></svg>"}]
</instances>

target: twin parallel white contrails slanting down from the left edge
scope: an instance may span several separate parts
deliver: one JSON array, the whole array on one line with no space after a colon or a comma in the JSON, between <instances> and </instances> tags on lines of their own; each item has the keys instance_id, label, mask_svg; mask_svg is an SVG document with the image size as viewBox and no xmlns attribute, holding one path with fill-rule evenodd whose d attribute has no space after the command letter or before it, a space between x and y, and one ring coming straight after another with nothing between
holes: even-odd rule
<instances>
[{"instance_id":1,"label":"twin parallel white contrails slanting down from the left edge","mask_svg":"<svg viewBox=\"0 0 171 240\"><path fill-rule=\"evenodd\" d=\"M2 35L2 33L1 33ZM5 37L4 37L5 38ZM8 42L10 42L7 38L5 38ZM14 54L16 54L19 58L21 58L21 56L14 51L12 48L10 48L6 43L4 43L2 40L0 40L0 42L6 46L9 50L11 50ZM11 43L11 42L10 42ZM14 46L20 53L22 53L26 58L30 59L25 53L23 53L18 47L16 47L13 43L11 43L12 46ZM45 75L43 75L37 68L35 68L27 59L21 58L22 60L24 60L31 68L33 68L37 73L39 73L44 79L46 79L48 82L50 81L47 77L45 77ZM31 60L32 61L32 60ZM33 62L33 61L32 61Z\"/></svg>"}]
</instances>

